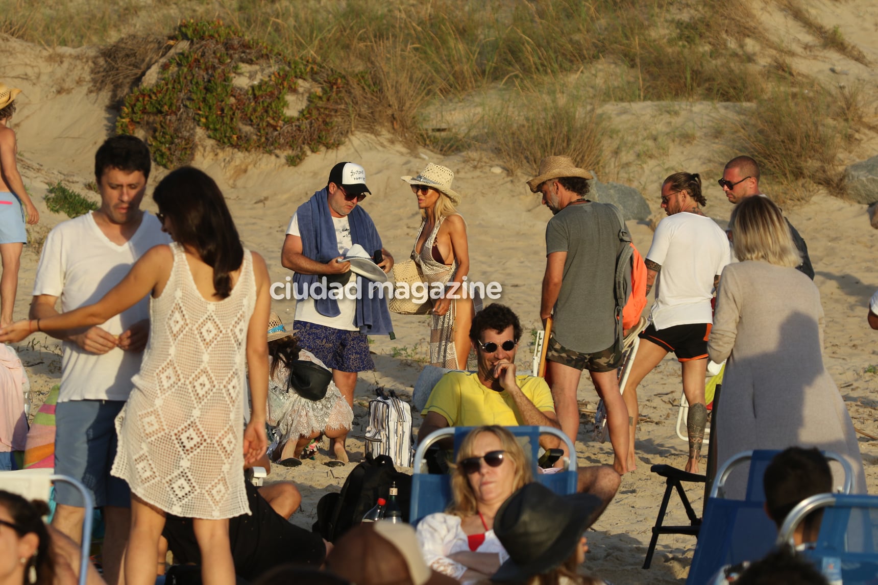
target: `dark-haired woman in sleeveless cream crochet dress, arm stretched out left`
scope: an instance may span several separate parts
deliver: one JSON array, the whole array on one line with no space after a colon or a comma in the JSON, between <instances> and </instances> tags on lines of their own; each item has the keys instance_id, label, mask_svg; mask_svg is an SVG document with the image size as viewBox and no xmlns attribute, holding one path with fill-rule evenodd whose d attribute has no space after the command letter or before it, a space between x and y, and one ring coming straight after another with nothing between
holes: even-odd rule
<instances>
[{"instance_id":1,"label":"dark-haired woman in sleeveless cream crochet dress, arm stretched out left","mask_svg":"<svg viewBox=\"0 0 878 585\"><path fill-rule=\"evenodd\" d=\"M170 512L194 518L203 581L232 585L228 518L250 512L243 467L266 448L268 269L241 246L222 193L202 171L176 169L153 198L174 243L151 248L97 303L18 321L0 339L100 325L152 295L148 346L116 421L112 474L132 492L126 583L155 581ZM245 369L253 406L243 429Z\"/></svg>"}]
</instances>

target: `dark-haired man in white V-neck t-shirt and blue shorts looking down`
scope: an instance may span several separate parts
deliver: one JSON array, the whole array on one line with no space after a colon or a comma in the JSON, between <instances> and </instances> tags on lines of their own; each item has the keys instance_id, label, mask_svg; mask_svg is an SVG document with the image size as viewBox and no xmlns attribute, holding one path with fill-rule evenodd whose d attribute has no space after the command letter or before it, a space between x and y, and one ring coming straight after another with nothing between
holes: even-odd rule
<instances>
[{"instance_id":1,"label":"dark-haired man in white V-neck t-shirt and blue shorts looking down","mask_svg":"<svg viewBox=\"0 0 878 585\"><path fill-rule=\"evenodd\" d=\"M57 315L59 300L61 312L95 303L149 248L169 243L159 220L140 210L149 169L149 149L133 136L112 137L97 149L100 209L49 232L33 283L30 318ZM126 482L110 474L116 456L114 421L140 370L148 319L144 297L100 327L53 333L63 341L54 470L83 482L104 509L104 580L110 585L121 581L131 506ZM61 483L55 499L52 524L79 542L84 510L78 493Z\"/></svg>"}]
</instances>

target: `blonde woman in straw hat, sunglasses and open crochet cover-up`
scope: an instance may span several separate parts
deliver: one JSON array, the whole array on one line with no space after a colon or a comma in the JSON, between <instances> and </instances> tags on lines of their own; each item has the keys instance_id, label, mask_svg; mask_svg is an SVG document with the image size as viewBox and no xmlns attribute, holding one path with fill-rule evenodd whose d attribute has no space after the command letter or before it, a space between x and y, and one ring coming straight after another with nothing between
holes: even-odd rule
<instances>
[{"instance_id":1,"label":"blonde woman in straw hat, sunglasses and open crochet cover-up","mask_svg":"<svg viewBox=\"0 0 878 585\"><path fill-rule=\"evenodd\" d=\"M412 260L421 267L430 289L439 282L450 295L459 296L433 301L430 363L450 369L475 369L470 325L478 309L469 295L463 298L470 251L464 218L454 208L460 204L460 195L451 189L454 173L431 162L419 175L404 176L402 180L412 186L421 210L421 229L414 240ZM475 303L480 308L481 300Z\"/></svg>"}]
</instances>

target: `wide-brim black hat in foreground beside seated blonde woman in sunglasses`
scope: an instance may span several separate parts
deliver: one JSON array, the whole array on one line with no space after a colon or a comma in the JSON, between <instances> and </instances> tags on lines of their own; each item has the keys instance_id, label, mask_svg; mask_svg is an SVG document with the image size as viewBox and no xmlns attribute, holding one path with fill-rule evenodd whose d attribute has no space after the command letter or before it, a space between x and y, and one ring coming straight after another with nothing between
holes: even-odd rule
<instances>
[{"instance_id":1,"label":"wide-brim black hat in foreground beside seated blonde woman in sunglasses","mask_svg":"<svg viewBox=\"0 0 878 585\"><path fill-rule=\"evenodd\" d=\"M570 558L597 517L601 498L558 496L542 483L518 489L497 510L493 531L509 554L492 581L522 583Z\"/></svg>"}]
</instances>

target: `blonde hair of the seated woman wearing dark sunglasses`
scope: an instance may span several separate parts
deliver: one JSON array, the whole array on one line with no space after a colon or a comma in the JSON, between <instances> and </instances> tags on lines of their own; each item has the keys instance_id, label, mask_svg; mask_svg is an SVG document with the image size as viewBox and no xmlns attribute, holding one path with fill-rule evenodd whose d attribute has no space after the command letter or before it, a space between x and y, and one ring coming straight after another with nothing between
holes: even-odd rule
<instances>
[{"instance_id":1,"label":"blonde hair of the seated woman wearing dark sunglasses","mask_svg":"<svg viewBox=\"0 0 878 585\"><path fill-rule=\"evenodd\" d=\"M457 449L457 459L451 474L451 495L454 497L454 501L446 510L453 516L467 517L479 511L476 495L472 492L470 480L466 476L463 467L459 464L461 460L472 457L473 445L483 432L492 432L497 439L500 439L500 446L506 452L505 457L515 466L515 476L513 477L510 493L521 488L526 483L534 481L534 476L530 472L530 461L527 455L524 454L524 449L519 445L518 440L515 439L515 435L496 424L479 426L464 437L460 448Z\"/></svg>"}]
</instances>

